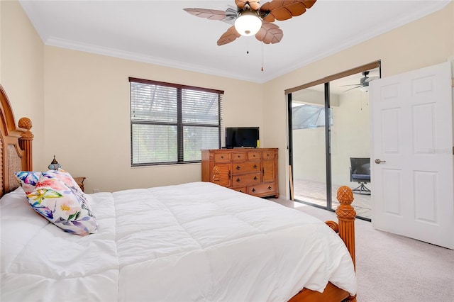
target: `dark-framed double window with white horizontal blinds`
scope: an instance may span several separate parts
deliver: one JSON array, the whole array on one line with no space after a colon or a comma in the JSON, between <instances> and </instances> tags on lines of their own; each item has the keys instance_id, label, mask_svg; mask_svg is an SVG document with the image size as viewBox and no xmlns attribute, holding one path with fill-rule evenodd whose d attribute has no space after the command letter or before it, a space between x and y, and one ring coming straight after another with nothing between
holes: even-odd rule
<instances>
[{"instance_id":1,"label":"dark-framed double window with white horizontal blinds","mask_svg":"<svg viewBox=\"0 0 454 302\"><path fill-rule=\"evenodd\" d=\"M131 166L200 162L221 147L223 91L129 78Z\"/></svg>"}]
</instances>

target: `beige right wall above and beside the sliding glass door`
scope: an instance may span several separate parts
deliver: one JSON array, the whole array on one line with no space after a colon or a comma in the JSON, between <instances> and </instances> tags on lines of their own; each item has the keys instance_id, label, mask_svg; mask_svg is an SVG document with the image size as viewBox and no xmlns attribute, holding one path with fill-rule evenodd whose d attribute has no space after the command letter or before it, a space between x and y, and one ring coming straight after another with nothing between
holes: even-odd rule
<instances>
[{"instance_id":1,"label":"beige right wall above and beside the sliding glass door","mask_svg":"<svg viewBox=\"0 0 454 302\"><path fill-rule=\"evenodd\" d=\"M263 133L267 145L279 147L279 193L281 196L289 196L285 89L376 60L382 60L382 77L446 62L454 56L453 37L454 2L451 2L436 13L264 84L264 119L273 121L273 125L265 126Z\"/></svg>"}]
</instances>

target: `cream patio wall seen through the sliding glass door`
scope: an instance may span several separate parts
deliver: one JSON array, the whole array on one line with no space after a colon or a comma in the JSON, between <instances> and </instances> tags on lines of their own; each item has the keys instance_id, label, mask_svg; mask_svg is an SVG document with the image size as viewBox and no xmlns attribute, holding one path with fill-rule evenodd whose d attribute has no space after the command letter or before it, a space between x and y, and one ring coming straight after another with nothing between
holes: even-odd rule
<instances>
[{"instance_id":1,"label":"cream patio wall seen through the sliding glass door","mask_svg":"<svg viewBox=\"0 0 454 302\"><path fill-rule=\"evenodd\" d=\"M321 104L317 100L323 101L324 96L323 92L309 88L301 91L297 99ZM355 185L350 184L350 157L370 155L368 103L368 93L360 89L331 95L331 180L335 185ZM292 133L294 179L325 183L325 128L297 129Z\"/></svg>"}]
</instances>

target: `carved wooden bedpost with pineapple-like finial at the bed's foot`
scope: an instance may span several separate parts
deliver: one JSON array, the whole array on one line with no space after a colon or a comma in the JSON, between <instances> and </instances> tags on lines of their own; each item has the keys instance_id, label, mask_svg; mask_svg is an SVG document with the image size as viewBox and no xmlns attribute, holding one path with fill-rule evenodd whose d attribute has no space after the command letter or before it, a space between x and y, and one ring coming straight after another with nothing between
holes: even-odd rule
<instances>
[{"instance_id":1,"label":"carved wooden bedpost with pineapple-like finial at the bed's foot","mask_svg":"<svg viewBox=\"0 0 454 302\"><path fill-rule=\"evenodd\" d=\"M355 217L356 211L351 205L353 202L353 192L348 186L341 186L338 189L338 201L341 203L337 210L339 236L347 246L348 252L353 260L353 267L356 271L355 262ZM348 297L345 301L356 301L356 295Z\"/></svg>"}]
</instances>

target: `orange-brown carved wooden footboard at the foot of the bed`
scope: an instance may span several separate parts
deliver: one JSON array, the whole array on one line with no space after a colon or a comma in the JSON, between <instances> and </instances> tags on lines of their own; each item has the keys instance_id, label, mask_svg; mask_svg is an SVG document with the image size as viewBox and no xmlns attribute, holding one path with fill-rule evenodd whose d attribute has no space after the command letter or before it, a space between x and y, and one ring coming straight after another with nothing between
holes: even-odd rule
<instances>
[{"instance_id":1,"label":"orange-brown carved wooden footboard at the foot of the bed","mask_svg":"<svg viewBox=\"0 0 454 302\"><path fill-rule=\"evenodd\" d=\"M348 186L341 186L338 189L337 199L341 203L337 210L338 223L335 221L326 221L326 224L341 236L343 242L347 246L348 252L353 259L355 266L355 217L356 211L351 206L353 202L353 192ZM356 268L356 267L355 267ZM297 295L293 296L289 302L311 301L311 302L326 302L326 301L356 301L356 295L350 296L347 291L339 289L337 286L328 283L323 293L319 291L311 291L303 289Z\"/></svg>"}]
</instances>

